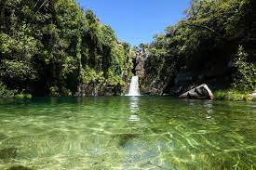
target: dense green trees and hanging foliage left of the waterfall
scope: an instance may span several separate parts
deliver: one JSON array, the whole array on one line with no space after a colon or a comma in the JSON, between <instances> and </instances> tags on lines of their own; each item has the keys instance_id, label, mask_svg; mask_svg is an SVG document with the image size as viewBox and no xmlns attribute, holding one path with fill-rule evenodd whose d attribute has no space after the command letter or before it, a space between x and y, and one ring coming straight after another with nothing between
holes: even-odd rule
<instances>
[{"instance_id":1,"label":"dense green trees and hanging foliage left of the waterfall","mask_svg":"<svg viewBox=\"0 0 256 170\"><path fill-rule=\"evenodd\" d=\"M74 0L0 1L0 96L70 96L79 84L125 85L128 44Z\"/></svg>"}]
</instances>

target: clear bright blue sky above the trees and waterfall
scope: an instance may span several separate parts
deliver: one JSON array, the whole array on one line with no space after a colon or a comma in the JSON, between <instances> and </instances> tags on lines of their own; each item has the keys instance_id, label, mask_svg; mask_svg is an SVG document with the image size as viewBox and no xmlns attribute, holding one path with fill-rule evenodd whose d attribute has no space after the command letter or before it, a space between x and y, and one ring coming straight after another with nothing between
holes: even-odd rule
<instances>
[{"instance_id":1,"label":"clear bright blue sky above the trees and waterfall","mask_svg":"<svg viewBox=\"0 0 256 170\"><path fill-rule=\"evenodd\" d=\"M102 23L111 26L120 41L132 46L150 43L185 17L190 0L76 0L92 9Z\"/></svg>"}]
</instances>

